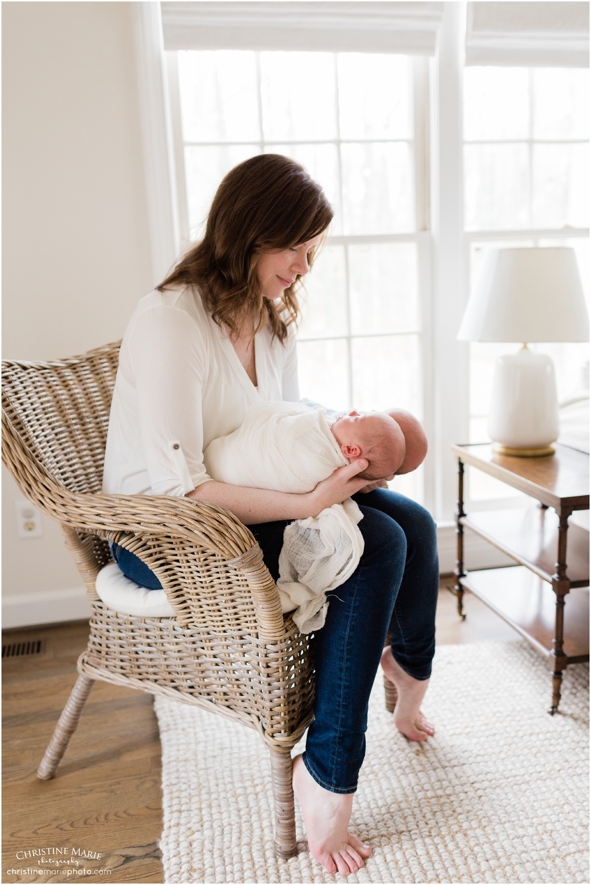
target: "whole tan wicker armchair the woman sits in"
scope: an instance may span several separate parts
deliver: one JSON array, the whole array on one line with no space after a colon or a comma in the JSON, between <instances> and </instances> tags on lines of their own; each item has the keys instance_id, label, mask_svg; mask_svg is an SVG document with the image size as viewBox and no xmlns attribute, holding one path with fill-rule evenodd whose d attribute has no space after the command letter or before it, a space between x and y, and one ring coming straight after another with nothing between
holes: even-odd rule
<instances>
[{"instance_id":1,"label":"whole tan wicker armchair the woman sits in","mask_svg":"<svg viewBox=\"0 0 591 885\"><path fill-rule=\"evenodd\" d=\"M312 720L311 637L281 613L249 530L215 504L101 494L119 342L51 363L4 362L4 464L57 519L92 606L78 680L37 772L56 773L97 679L256 728L271 754L275 848L295 853L290 750ZM108 541L157 574L175 617L111 611L95 589Z\"/></svg>"}]
</instances>

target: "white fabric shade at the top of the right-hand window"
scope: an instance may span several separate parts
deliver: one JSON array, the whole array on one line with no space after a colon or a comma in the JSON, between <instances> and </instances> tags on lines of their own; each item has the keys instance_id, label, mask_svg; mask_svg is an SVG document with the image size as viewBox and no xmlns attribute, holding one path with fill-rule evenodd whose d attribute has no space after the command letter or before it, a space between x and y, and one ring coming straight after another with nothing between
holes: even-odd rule
<instances>
[{"instance_id":1,"label":"white fabric shade at the top of the right-hand window","mask_svg":"<svg viewBox=\"0 0 591 885\"><path fill-rule=\"evenodd\" d=\"M588 67L589 4L469 3L465 63Z\"/></svg>"}]
</instances>

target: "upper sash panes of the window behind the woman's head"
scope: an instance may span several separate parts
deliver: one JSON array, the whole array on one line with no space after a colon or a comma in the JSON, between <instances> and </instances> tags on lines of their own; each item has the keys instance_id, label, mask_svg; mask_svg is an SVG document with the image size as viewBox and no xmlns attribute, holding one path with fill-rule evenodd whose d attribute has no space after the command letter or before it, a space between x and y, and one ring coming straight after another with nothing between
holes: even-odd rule
<instances>
[{"instance_id":1,"label":"upper sash panes of the window behind the woman's head","mask_svg":"<svg viewBox=\"0 0 591 885\"><path fill-rule=\"evenodd\" d=\"M415 229L411 59L249 50L177 58L190 239L223 175L265 151L286 153L319 181L334 204L333 235ZM377 95L384 109L372 124Z\"/></svg>"}]
</instances>

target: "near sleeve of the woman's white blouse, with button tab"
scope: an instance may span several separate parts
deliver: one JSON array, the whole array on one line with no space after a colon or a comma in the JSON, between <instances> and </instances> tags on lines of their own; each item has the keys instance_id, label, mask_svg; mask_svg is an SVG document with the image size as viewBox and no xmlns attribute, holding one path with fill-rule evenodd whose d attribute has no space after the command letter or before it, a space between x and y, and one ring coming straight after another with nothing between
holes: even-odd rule
<instances>
[{"instance_id":1,"label":"near sleeve of the woman's white blouse, with button tab","mask_svg":"<svg viewBox=\"0 0 591 885\"><path fill-rule=\"evenodd\" d=\"M157 305L136 318L129 355L152 492L184 496L211 480L203 465L203 335L186 312Z\"/></svg>"}]
</instances>

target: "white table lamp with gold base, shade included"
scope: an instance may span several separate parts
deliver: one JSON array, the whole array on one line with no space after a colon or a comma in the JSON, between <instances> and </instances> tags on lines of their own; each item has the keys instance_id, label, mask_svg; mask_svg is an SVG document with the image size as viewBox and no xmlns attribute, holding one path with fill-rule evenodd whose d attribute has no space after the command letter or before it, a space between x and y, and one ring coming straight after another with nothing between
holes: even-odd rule
<instances>
[{"instance_id":1,"label":"white table lamp with gold base, shade included","mask_svg":"<svg viewBox=\"0 0 591 885\"><path fill-rule=\"evenodd\" d=\"M496 362L488 435L505 455L551 455L559 433L554 366L526 342L589 340L574 250L488 250L457 338L523 343Z\"/></svg>"}]
</instances>

